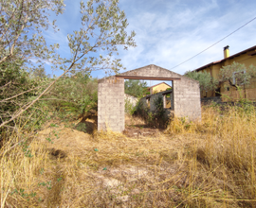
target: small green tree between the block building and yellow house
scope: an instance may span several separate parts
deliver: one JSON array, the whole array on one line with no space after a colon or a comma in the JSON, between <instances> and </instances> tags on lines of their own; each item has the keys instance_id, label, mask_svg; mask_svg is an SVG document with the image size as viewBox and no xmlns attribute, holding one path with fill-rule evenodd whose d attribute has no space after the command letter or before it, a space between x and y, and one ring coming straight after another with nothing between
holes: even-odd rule
<instances>
[{"instance_id":1,"label":"small green tree between the block building and yellow house","mask_svg":"<svg viewBox=\"0 0 256 208\"><path fill-rule=\"evenodd\" d=\"M212 78L210 73L207 72L188 71L184 76L199 81L201 91L215 90L219 84L219 81Z\"/></svg>"}]
</instances>

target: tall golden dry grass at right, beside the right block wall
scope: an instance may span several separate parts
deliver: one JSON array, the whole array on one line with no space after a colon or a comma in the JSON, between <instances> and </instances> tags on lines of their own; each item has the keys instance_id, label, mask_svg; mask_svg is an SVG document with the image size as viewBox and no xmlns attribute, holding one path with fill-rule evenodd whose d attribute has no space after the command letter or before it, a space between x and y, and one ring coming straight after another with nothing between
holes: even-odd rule
<instances>
[{"instance_id":1,"label":"tall golden dry grass at right, beside the right block wall","mask_svg":"<svg viewBox=\"0 0 256 208\"><path fill-rule=\"evenodd\" d=\"M243 107L243 106L242 106ZM227 199L217 195L214 199L237 201L236 205L255 206L256 111L237 106L203 109L201 122L188 122L175 118L166 130L203 141L193 147L196 162L204 165L215 184L229 190ZM224 192L223 192L224 193ZM234 206L234 204L232 204Z\"/></svg>"}]
</instances>

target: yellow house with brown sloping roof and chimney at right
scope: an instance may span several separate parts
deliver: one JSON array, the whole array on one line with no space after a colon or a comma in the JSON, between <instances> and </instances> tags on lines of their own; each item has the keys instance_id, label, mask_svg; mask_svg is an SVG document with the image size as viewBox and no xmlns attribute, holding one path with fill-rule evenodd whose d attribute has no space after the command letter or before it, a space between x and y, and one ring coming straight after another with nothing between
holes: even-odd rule
<instances>
[{"instance_id":1,"label":"yellow house with brown sloping roof and chimney at right","mask_svg":"<svg viewBox=\"0 0 256 208\"><path fill-rule=\"evenodd\" d=\"M224 59L220 61L210 62L207 65L204 65L200 68L197 68L193 71L203 72L206 71L210 73L212 78L218 78L220 69L223 66L232 64L232 62L243 63L247 67L251 64L256 66L256 45L250 48L247 48L244 51L241 51L237 54L229 56L229 45L224 47ZM242 88L243 93L238 92L234 87L225 87L225 83L219 85L216 91L203 91L201 92L201 98L203 97L216 97L222 96L222 101L228 101L228 98L231 98L233 101L239 98L247 98L250 100L256 101L256 80L251 80L250 84Z\"/></svg>"}]
</instances>

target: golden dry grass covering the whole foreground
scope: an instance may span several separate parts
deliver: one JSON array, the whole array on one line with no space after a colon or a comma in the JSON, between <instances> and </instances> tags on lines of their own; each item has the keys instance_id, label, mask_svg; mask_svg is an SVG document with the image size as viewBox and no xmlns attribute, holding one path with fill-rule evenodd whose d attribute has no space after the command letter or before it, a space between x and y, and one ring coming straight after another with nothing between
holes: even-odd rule
<instances>
[{"instance_id":1,"label":"golden dry grass covering the whole foreground","mask_svg":"<svg viewBox=\"0 0 256 208\"><path fill-rule=\"evenodd\" d=\"M207 108L157 137L49 126L30 139L32 157L1 149L1 205L255 207L255 114Z\"/></svg>"}]
</instances>

